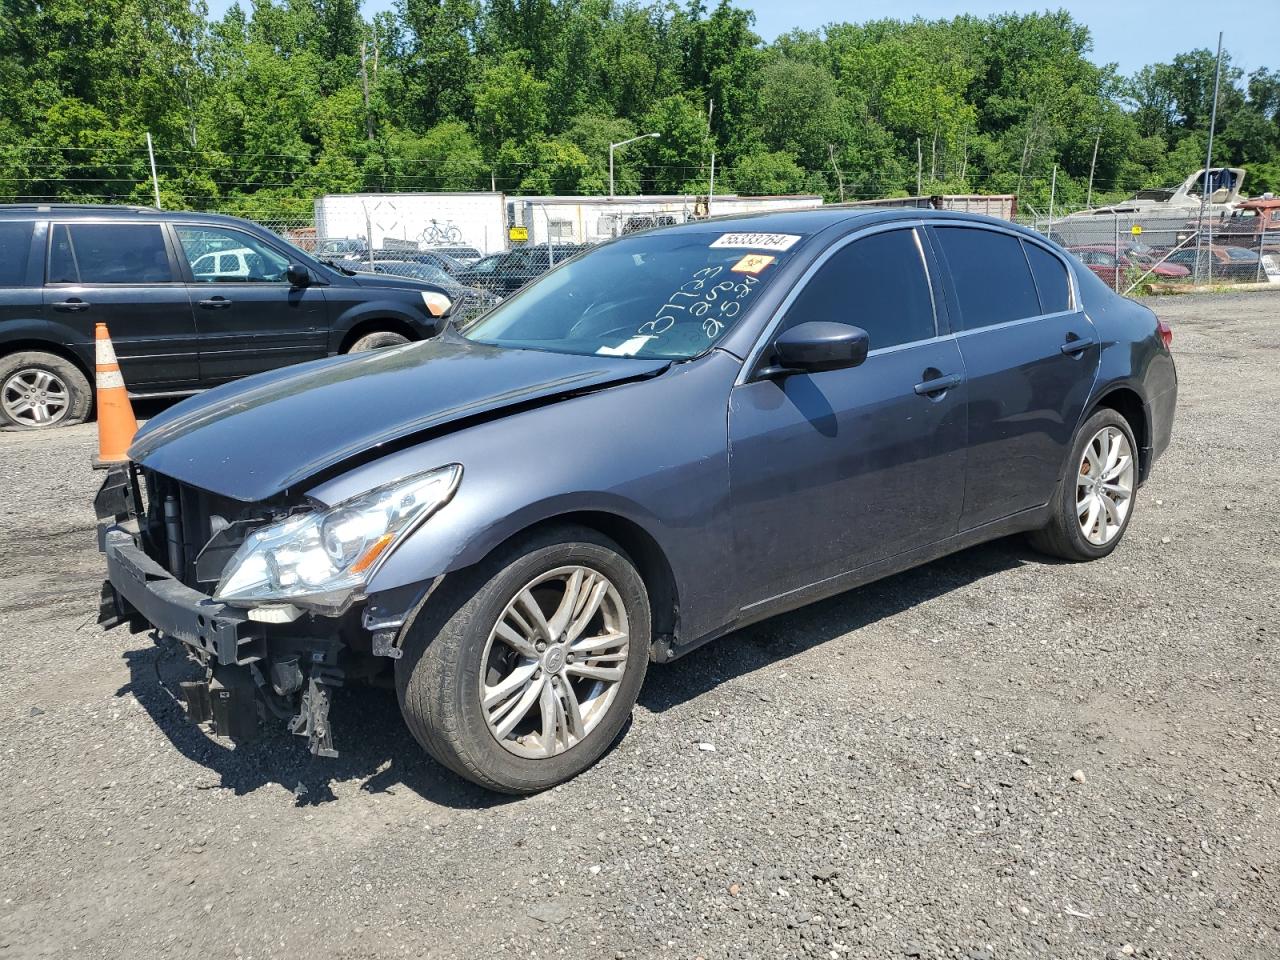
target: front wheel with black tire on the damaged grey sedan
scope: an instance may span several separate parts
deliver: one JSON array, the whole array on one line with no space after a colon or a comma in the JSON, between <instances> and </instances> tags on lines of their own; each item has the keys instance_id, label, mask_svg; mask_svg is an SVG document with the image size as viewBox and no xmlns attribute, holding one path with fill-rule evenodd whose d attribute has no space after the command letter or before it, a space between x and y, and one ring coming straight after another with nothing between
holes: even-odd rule
<instances>
[{"instance_id":1,"label":"front wheel with black tire on the damaged grey sedan","mask_svg":"<svg viewBox=\"0 0 1280 960\"><path fill-rule=\"evenodd\" d=\"M649 662L644 581L594 530L558 527L448 577L396 662L410 731L490 790L532 794L591 767Z\"/></svg>"}]
</instances>

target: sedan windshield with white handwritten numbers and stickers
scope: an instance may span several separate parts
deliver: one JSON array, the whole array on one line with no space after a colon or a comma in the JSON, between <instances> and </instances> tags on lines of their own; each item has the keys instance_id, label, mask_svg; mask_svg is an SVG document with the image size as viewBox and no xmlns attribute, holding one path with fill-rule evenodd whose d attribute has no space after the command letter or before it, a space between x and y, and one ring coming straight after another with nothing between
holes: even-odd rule
<instances>
[{"instance_id":1,"label":"sedan windshield with white handwritten numbers and stickers","mask_svg":"<svg viewBox=\"0 0 1280 960\"><path fill-rule=\"evenodd\" d=\"M759 298L800 239L678 230L607 243L526 287L465 335L558 353L695 357Z\"/></svg>"}]
</instances>

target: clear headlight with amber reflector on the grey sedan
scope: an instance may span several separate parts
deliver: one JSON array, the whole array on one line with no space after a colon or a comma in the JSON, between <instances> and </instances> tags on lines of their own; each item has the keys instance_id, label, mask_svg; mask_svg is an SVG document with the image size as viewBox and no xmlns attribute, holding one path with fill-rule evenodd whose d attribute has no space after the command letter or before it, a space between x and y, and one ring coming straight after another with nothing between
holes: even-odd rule
<instances>
[{"instance_id":1,"label":"clear headlight with amber reflector on the grey sedan","mask_svg":"<svg viewBox=\"0 0 1280 960\"><path fill-rule=\"evenodd\" d=\"M461 477L461 465L451 463L260 527L236 550L214 599L233 607L292 603L337 616L399 538L449 502Z\"/></svg>"}]
</instances>

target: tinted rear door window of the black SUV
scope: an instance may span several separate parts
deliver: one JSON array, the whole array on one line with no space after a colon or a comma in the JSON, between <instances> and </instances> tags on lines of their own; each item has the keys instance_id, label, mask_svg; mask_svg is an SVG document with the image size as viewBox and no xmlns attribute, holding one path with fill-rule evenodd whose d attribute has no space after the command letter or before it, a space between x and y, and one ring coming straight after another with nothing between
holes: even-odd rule
<instances>
[{"instance_id":1,"label":"tinted rear door window of the black SUV","mask_svg":"<svg viewBox=\"0 0 1280 960\"><path fill-rule=\"evenodd\" d=\"M172 283L173 279L160 224L54 227L49 283Z\"/></svg>"}]
</instances>

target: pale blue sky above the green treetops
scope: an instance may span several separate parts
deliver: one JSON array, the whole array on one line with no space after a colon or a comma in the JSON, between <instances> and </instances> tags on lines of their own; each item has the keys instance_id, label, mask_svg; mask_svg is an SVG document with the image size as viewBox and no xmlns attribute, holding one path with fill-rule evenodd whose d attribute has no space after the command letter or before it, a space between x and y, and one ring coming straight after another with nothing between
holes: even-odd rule
<instances>
[{"instance_id":1,"label":"pale blue sky above the green treetops","mask_svg":"<svg viewBox=\"0 0 1280 960\"><path fill-rule=\"evenodd\" d=\"M241 0L246 8L251 0ZM1280 68L1280 27L1276 13L1266 10L1275 0L1164 0L1158 5L1144 0L1074 0L1074 3L980 3L964 5L942 0L733 0L755 12L756 32L773 40L794 27L812 29L833 20L869 20L883 17L938 19L970 13L1032 13L1065 6L1093 33L1093 60L1117 63L1125 74L1148 63L1167 61L1175 54L1196 47L1215 49L1217 32L1225 32L1224 46L1233 63L1245 72L1258 67ZM232 0L209 0L219 17ZM714 0L708 0L710 6ZM365 14L390 9L392 0L364 0ZM1207 13L1206 13L1207 12ZM1267 24L1263 28L1263 24Z\"/></svg>"}]
</instances>

